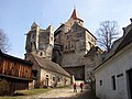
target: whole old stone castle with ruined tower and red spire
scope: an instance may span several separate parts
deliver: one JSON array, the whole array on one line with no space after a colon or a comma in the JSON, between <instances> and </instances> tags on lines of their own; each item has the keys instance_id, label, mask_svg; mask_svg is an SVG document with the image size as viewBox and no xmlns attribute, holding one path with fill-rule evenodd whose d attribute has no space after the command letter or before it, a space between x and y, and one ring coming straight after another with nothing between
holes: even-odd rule
<instances>
[{"instance_id":1,"label":"whole old stone castle with ruined tower and red spire","mask_svg":"<svg viewBox=\"0 0 132 99\"><path fill-rule=\"evenodd\" d=\"M97 38L84 26L76 9L72 16L55 32L50 25L41 29L35 22L26 34L26 56L35 54L61 65L77 80L88 80L89 72L95 67Z\"/></svg>"}]
</instances>

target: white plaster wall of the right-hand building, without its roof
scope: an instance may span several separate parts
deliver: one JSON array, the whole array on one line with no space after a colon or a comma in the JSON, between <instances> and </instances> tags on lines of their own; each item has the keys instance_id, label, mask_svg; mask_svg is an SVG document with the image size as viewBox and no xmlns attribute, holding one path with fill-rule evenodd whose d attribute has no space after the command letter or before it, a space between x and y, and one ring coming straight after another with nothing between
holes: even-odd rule
<instances>
[{"instance_id":1,"label":"white plaster wall of the right-hand building, without its roof","mask_svg":"<svg viewBox=\"0 0 132 99\"><path fill-rule=\"evenodd\" d=\"M132 44L119 52L96 70L96 94L101 99L129 99L127 86L127 70L132 68ZM117 75L123 76L117 77ZM117 89L112 90L111 76L116 75ZM102 80L102 86L100 86Z\"/></svg>"}]
</instances>

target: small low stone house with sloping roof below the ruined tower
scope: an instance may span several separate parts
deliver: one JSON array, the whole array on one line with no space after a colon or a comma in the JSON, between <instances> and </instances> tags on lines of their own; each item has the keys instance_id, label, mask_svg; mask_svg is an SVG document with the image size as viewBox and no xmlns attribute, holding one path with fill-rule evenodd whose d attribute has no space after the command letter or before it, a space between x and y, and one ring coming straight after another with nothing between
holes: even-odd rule
<instances>
[{"instance_id":1,"label":"small low stone house with sloping roof below the ruined tower","mask_svg":"<svg viewBox=\"0 0 132 99\"><path fill-rule=\"evenodd\" d=\"M33 63L33 70L37 72L35 87L59 87L70 85L70 75L58 64L48 58L30 54L28 61Z\"/></svg>"}]
</instances>

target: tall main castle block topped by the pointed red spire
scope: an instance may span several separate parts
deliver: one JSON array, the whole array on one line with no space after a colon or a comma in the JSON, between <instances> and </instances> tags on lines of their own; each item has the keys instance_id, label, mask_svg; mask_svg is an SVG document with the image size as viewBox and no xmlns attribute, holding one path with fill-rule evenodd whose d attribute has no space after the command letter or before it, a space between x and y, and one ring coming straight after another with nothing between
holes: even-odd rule
<instances>
[{"instance_id":1,"label":"tall main castle block topped by the pointed red spire","mask_svg":"<svg viewBox=\"0 0 132 99\"><path fill-rule=\"evenodd\" d=\"M76 9L70 19L55 31L54 38L53 61L75 75L76 79L85 79L84 55L96 46L97 38L84 28Z\"/></svg>"}]
</instances>

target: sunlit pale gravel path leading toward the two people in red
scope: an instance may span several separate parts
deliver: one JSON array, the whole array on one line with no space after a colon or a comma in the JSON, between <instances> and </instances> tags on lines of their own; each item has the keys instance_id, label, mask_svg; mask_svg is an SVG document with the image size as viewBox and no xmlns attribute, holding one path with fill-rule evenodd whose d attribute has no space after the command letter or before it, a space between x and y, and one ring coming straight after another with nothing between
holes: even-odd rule
<instances>
[{"instance_id":1,"label":"sunlit pale gravel path leading toward the two people in red","mask_svg":"<svg viewBox=\"0 0 132 99\"><path fill-rule=\"evenodd\" d=\"M77 92L74 92L74 89L72 86L66 88L56 88L45 94L29 96L28 99L69 99L72 97L74 98L77 95L82 94L80 92L79 88L77 88L77 90L78 90Z\"/></svg>"}]
</instances>

